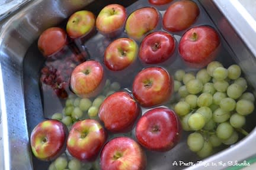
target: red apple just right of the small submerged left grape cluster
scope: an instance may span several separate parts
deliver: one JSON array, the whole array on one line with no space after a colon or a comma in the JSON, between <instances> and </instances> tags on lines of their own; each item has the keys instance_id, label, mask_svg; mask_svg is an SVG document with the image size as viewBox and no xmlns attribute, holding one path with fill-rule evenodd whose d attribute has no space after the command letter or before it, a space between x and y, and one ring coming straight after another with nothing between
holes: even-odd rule
<instances>
[{"instance_id":1,"label":"red apple just right of the small submerged left grape cluster","mask_svg":"<svg viewBox=\"0 0 256 170\"><path fill-rule=\"evenodd\" d=\"M98 116L107 130L124 133L132 130L140 107L129 93L118 91L108 96L100 106Z\"/></svg>"}]
</instances>

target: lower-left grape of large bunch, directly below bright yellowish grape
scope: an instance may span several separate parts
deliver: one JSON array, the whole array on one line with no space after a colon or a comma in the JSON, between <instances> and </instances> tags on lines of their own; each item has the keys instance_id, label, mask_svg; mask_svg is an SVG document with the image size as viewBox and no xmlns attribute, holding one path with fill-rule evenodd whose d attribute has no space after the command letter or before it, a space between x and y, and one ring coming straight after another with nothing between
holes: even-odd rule
<instances>
[{"instance_id":1,"label":"lower-left grape of large bunch, directly below bright yellowish grape","mask_svg":"<svg viewBox=\"0 0 256 170\"><path fill-rule=\"evenodd\" d=\"M187 145L193 152L200 151L204 145L204 138L198 132L190 133L187 138Z\"/></svg>"}]
</instances>

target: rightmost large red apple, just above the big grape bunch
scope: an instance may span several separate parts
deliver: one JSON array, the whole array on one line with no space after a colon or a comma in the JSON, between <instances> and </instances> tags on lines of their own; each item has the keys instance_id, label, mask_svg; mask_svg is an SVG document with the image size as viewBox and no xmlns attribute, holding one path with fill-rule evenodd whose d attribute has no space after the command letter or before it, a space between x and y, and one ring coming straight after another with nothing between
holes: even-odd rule
<instances>
[{"instance_id":1,"label":"rightmost large red apple, just above the big grape bunch","mask_svg":"<svg viewBox=\"0 0 256 170\"><path fill-rule=\"evenodd\" d=\"M191 67L202 68L216 58L219 46L217 32L212 27L203 25L185 32L178 50L185 63Z\"/></svg>"}]
</instances>

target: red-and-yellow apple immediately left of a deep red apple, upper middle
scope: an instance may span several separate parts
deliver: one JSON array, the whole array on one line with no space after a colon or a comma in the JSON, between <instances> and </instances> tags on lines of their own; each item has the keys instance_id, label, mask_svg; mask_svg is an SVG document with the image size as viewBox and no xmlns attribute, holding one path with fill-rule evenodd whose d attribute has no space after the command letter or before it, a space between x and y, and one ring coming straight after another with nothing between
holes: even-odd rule
<instances>
[{"instance_id":1,"label":"red-and-yellow apple immediately left of a deep red apple, upper middle","mask_svg":"<svg viewBox=\"0 0 256 170\"><path fill-rule=\"evenodd\" d=\"M137 43L130 38L119 38L105 50L104 64L113 71L120 71L130 66L137 58Z\"/></svg>"}]
</instances>

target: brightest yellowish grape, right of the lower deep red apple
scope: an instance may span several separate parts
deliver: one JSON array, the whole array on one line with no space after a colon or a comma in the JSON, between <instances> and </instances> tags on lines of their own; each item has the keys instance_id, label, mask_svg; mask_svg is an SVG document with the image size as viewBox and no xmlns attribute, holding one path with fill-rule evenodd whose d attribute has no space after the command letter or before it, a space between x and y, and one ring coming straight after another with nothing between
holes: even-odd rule
<instances>
[{"instance_id":1,"label":"brightest yellowish grape, right of the lower deep red apple","mask_svg":"<svg viewBox=\"0 0 256 170\"><path fill-rule=\"evenodd\" d=\"M204 127L206 121L204 116L200 113L193 113L190 117L188 117L188 126L192 130L200 130Z\"/></svg>"}]
</instances>

